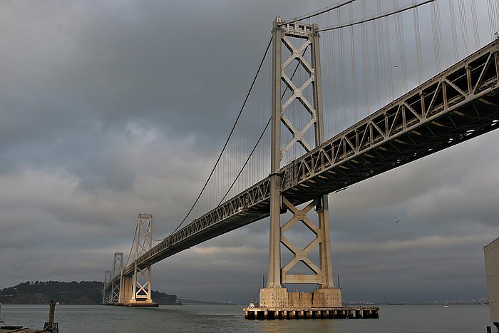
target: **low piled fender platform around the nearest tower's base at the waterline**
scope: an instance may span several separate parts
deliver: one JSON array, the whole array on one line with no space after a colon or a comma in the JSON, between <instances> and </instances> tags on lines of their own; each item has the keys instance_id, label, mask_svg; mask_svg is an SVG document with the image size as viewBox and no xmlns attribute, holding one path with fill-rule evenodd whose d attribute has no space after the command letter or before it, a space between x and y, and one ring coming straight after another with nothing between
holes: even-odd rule
<instances>
[{"instance_id":1,"label":"low piled fender platform around the nearest tower's base at the waterline","mask_svg":"<svg viewBox=\"0 0 499 333\"><path fill-rule=\"evenodd\" d=\"M379 307L263 308L246 307L245 319L373 319Z\"/></svg>"}]
</instances>

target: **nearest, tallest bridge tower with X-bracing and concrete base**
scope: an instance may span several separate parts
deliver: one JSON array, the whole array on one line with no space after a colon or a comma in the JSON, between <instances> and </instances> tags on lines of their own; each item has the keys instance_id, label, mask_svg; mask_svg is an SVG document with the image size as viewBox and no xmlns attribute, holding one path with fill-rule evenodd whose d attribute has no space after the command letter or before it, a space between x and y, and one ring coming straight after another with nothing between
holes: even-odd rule
<instances>
[{"instance_id":1,"label":"nearest, tallest bridge tower with X-bracing and concrete base","mask_svg":"<svg viewBox=\"0 0 499 333\"><path fill-rule=\"evenodd\" d=\"M299 209L287 200L285 193L281 192L284 178L287 182L293 181L297 179L298 173L298 170L294 168L281 170L281 160L284 154L294 145L299 145L309 152L324 142L319 26L293 21L284 22L277 17L272 34L269 272L267 286L260 290L260 307L341 307L341 290L335 288L333 282L327 195L315 198L307 207ZM282 52L283 45L290 53L288 58ZM292 64L296 64L294 71L290 68ZM306 73L307 77L301 78L299 82L294 80L294 73L297 73L297 70ZM307 120L302 128L299 128L300 125L296 124L296 120L287 116L289 114L287 108L292 104L294 108L300 107L302 119ZM292 139L283 145L281 143L282 128L289 130L292 134ZM314 135L307 134L309 130L313 130ZM314 140L313 146L307 141L307 138L311 137ZM315 218L307 216L307 213L313 213L312 208L317 214L317 225L313 222ZM286 210L292 212L292 218L282 224L281 213ZM303 249L294 245L285 236L287 230L297 222L302 222L314 235L314 240ZM281 265L281 245L292 254L292 260L284 266ZM309 257L312 251L317 251L317 247L319 247L318 265ZM307 267L310 274L288 273L299 262ZM283 287L286 283L315 284L319 287L312 293L295 293L287 292L287 288Z\"/></svg>"}]
</instances>

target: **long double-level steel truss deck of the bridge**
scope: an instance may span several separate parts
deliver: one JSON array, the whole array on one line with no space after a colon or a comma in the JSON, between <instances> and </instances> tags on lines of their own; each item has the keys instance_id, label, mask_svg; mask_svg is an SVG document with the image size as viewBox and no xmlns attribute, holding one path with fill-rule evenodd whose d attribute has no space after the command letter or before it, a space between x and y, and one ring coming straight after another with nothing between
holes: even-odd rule
<instances>
[{"instance_id":1,"label":"long double-level steel truss deck of the bridge","mask_svg":"<svg viewBox=\"0 0 499 333\"><path fill-rule=\"evenodd\" d=\"M306 203L499 128L499 40L281 169L282 194ZM269 178L167 237L145 267L269 216ZM133 264L123 270L133 274ZM115 277L119 278L119 277Z\"/></svg>"}]
</instances>

